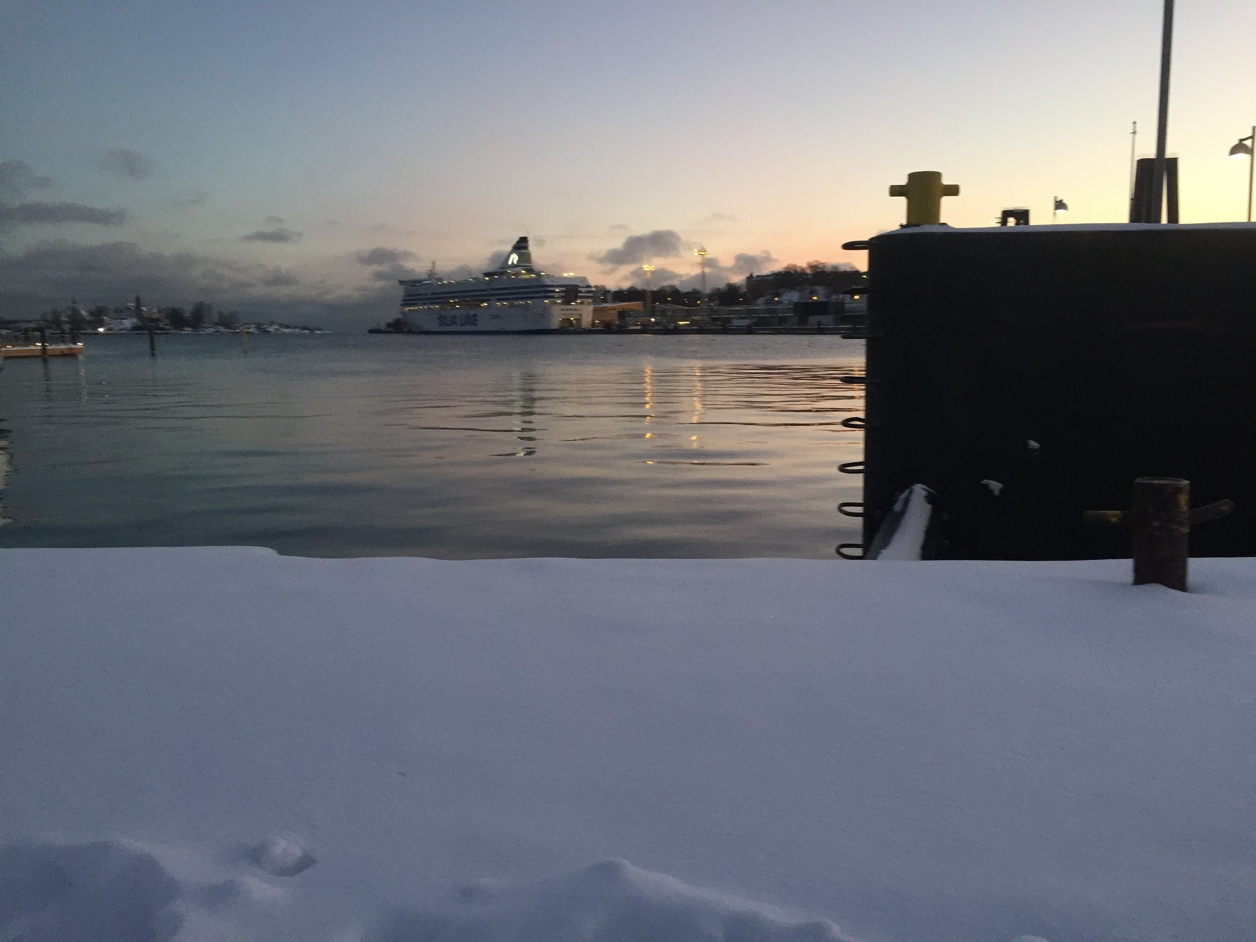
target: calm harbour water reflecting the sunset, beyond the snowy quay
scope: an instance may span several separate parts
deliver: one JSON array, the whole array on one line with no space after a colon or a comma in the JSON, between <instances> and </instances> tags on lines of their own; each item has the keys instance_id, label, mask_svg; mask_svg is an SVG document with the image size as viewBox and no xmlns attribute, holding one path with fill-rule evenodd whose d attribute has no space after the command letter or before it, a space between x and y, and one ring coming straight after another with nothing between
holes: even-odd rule
<instances>
[{"instance_id":1,"label":"calm harbour water reflecting the sunset, beyond the snowy quay","mask_svg":"<svg viewBox=\"0 0 1256 942\"><path fill-rule=\"evenodd\" d=\"M833 335L88 338L0 371L0 546L809 556L857 541Z\"/></svg>"}]
</instances>

